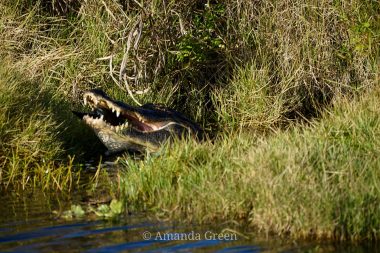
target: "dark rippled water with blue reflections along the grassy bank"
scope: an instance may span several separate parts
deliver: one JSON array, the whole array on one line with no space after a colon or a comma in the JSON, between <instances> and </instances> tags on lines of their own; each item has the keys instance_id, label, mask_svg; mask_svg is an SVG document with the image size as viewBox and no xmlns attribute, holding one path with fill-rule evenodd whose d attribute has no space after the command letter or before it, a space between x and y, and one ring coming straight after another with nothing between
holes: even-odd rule
<instances>
[{"instance_id":1,"label":"dark rippled water with blue reflections along the grassy bank","mask_svg":"<svg viewBox=\"0 0 380 253\"><path fill-rule=\"evenodd\" d=\"M78 193L78 195L80 195ZM62 199L64 201L62 202ZM159 221L144 213L99 219L65 220L53 211L80 198L3 192L0 252L377 252L376 245L291 242L245 237L226 225L198 226ZM224 236L217 239L217 236ZM215 237L215 238L213 238Z\"/></svg>"}]
</instances>

